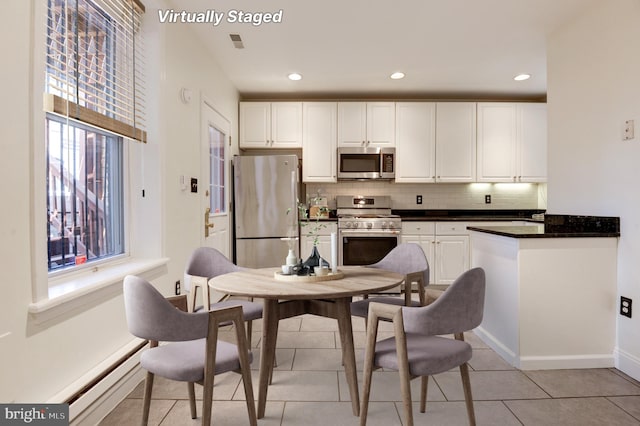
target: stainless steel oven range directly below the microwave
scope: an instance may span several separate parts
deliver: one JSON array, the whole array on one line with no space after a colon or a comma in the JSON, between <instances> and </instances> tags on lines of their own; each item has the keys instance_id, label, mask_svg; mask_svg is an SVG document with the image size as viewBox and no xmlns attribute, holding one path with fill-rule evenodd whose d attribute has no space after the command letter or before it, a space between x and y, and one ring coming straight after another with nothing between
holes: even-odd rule
<instances>
[{"instance_id":1,"label":"stainless steel oven range directly below the microwave","mask_svg":"<svg viewBox=\"0 0 640 426\"><path fill-rule=\"evenodd\" d=\"M401 219L391 214L391 197L339 195L336 207L340 265L376 263L398 245Z\"/></svg>"}]
</instances>

